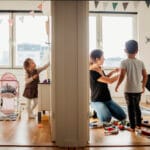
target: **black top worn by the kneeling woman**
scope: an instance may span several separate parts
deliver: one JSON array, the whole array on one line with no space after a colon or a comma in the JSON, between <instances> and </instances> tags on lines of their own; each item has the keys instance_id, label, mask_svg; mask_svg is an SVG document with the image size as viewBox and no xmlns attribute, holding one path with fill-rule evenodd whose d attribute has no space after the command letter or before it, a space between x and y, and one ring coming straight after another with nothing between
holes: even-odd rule
<instances>
[{"instance_id":1,"label":"black top worn by the kneeling woman","mask_svg":"<svg viewBox=\"0 0 150 150\"><path fill-rule=\"evenodd\" d=\"M90 88L92 102L105 102L112 99L108 89L108 85L106 83L97 81L97 79L100 77L101 75L98 72L90 70Z\"/></svg>"}]
</instances>

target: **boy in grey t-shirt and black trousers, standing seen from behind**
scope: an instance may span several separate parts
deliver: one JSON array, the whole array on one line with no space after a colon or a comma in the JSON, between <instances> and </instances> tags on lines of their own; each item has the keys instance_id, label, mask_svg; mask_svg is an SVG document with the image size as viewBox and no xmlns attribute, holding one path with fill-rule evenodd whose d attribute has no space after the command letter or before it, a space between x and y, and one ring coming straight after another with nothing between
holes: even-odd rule
<instances>
[{"instance_id":1,"label":"boy in grey t-shirt and black trousers, standing seen from behind","mask_svg":"<svg viewBox=\"0 0 150 150\"><path fill-rule=\"evenodd\" d=\"M145 91L147 73L144 63L136 58L138 43L135 40L129 40L125 43L125 52L128 58L121 62L121 73L115 91L118 91L118 87L126 75L124 93L130 121L129 131L135 131L136 127L140 128L141 126L139 104L141 93Z\"/></svg>"}]
</instances>

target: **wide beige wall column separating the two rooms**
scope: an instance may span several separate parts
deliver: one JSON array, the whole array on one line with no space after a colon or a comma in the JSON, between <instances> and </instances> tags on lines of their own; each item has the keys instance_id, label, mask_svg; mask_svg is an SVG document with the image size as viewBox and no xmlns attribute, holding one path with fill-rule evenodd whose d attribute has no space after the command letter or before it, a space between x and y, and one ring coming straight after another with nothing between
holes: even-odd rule
<instances>
[{"instance_id":1,"label":"wide beige wall column separating the two rooms","mask_svg":"<svg viewBox=\"0 0 150 150\"><path fill-rule=\"evenodd\" d=\"M52 1L52 138L57 146L89 140L88 1Z\"/></svg>"}]
</instances>

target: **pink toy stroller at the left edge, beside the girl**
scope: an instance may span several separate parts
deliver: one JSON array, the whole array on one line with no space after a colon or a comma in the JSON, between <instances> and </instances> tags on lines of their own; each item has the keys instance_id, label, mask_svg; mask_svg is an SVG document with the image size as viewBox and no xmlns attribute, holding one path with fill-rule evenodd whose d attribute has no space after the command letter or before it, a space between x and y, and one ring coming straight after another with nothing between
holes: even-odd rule
<instances>
[{"instance_id":1,"label":"pink toy stroller at the left edge, beside the girl","mask_svg":"<svg viewBox=\"0 0 150 150\"><path fill-rule=\"evenodd\" d=\"M19 82L12 73L0 79L0 120L16 120L19 114Z\"/></svg>"}]
</instances>

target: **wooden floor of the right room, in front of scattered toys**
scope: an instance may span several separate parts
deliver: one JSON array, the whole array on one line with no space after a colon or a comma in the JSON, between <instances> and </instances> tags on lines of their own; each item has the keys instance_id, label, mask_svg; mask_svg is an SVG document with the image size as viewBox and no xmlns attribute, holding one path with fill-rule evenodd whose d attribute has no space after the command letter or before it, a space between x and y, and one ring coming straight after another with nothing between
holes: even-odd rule
<instances>
[{"instance_id":1,"label":"wooden floor of the right room, in front of scattered toys","mask_svg":"<svg viewBox=\"0 0 150 150\"><path fill-rule=\"evenodd\" d=\"M150 108L150 105L142 104L143 107ZM142 116L143 120L150 122L150 116ZM139 135L137 132L127 130L119 131L117 135L105 135L103 128L90 129L89 145L92 147L101 146L104 150L147 150L150 149L150 136ZM93 149L94 150L94 149Z\"/></svg>"}]
</instances>

